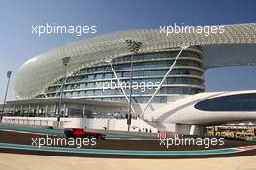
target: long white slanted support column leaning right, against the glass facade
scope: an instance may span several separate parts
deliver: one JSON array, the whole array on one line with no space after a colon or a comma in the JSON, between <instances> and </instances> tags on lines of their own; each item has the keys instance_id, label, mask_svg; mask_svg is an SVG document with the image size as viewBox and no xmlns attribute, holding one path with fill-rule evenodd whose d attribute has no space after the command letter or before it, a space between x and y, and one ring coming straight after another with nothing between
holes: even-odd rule
<instances>
[{"instance_id":1,"label":"long white slanted support column leaning right, against the glass facade","mask_svg":"<svg viewBox=\"0 0 256 170\"><path fill-rule=\"evenodd\" d=\"M141 114L141 117L144 115L145 110L147 109L147 107L149 106L149 104L151 103L151 101L154 99L156 93L157 93L157 92L160 90L160 88L162 87L162 85L163 85L164 81L166 80L167 76L169 75L169 73L170 73L170 72L173 70L173 68L175 67L176 61L177 61L177 59L179 58L179 56L181 55L182 51L183 51L184 49L186 49L186 48L188 48L188 46L182 46L182 47L181 47L179 53L178 53L177 56L176 56L175 61L174 61L173 64L170 66L169 70L166 72L164 78L163 78L162 81L160 82L160 84L159 84L159 86L157 87L157 89L155 90L154 94L152 95L152 97L148 100L147 104L145 105L144 111L143 111L143 113Z\"/></svg>"}]
</instances>

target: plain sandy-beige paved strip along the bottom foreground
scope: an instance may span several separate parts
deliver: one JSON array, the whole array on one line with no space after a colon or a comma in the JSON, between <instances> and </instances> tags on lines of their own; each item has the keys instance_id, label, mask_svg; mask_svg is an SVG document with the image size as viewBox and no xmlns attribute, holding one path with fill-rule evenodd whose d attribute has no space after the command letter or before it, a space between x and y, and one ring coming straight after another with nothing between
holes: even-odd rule
<instances>
[{"instance_id":1,"label":"plain sandy-beige paved strip along the bottom foreground","mask_svg":"<svg viewBox=\"0 0 256 170\"><path fill-rule=\"evenodd\" d=\"M256 156L205 159L109 159L0 153L1 170L256 170Z\"/></svg>"}]
</instances>

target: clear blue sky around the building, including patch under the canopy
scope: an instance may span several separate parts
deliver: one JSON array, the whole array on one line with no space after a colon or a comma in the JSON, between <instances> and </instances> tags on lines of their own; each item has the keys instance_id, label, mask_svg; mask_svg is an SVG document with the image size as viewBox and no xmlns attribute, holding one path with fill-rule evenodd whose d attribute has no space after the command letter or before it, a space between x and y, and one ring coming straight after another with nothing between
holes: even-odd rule
<instances>
[{"instance_id":1,"label":"clear blue sky around the building, including patch under the canopy","mask_svg":"<svg viewBox=\"0 0 256 170\"><path fill-rule=\"evenodd\" d=\"M68 42L113 31L160 25L256 23L255 0L0 0L0 102L7 71L12 82L26 60ZM96 25L83 36L32 34L32 25ZM256 89L255 67L226 67L205 72L206 91Z\"/></svg>"}]
</instances>

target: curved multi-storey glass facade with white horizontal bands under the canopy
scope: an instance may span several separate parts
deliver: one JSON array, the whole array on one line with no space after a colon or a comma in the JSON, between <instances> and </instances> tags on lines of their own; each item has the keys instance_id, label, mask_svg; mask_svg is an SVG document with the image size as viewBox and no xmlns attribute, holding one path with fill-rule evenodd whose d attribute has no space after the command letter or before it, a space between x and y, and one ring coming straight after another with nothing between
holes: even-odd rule
<instances>
[{"instance_id":1,"label":"curved multi-storey glass facade with white horizontal bands under the canopy","mask_svg":"<svg viewBox=\"0 0 256 170\"><path fill-rule=\"evenodd\" d=\"M146 103L160 84L165 73L174 62L179 50L169 50L146 54L136 54L133 59L133 78L130 85L131 56L114 59L112 65L120 78L118 84L108 63L99 63L83 68L68 77L64 85L64 97L82 99L126 101L120 86L130 93L133 102ZM154 103L165 103L173 94L192 95L204 91L204 64L198 48L183 51L176 66L169 74ZM48 87L48 97L59 96L60 85L65 78Z\"/></svg>"}]
</instances>

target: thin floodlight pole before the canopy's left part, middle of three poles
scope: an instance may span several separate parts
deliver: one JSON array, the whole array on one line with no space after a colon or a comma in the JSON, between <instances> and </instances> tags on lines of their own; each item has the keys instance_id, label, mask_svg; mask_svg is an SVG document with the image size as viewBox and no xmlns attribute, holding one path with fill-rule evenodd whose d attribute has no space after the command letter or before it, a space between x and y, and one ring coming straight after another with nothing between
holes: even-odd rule
<instances>
[{"instance_id":1,"label":"thin floodlight pole before the canopy's left part, middle of three poles","mask_svg":"<svg viewBox=\"0 0 256 170\"><path fill-rule=\"evenodd\" d=\"M60 91L60 97L59 97L59 105L58 105L58 115L57 115L57 121L58 121L58 127L59 127L59 122L60 122L60 117L62 116L61 115L61 105L62 105L62 95L63 95L63 89L64 89L64 85L65 85L65 81L66 81L66 76L67 76L67 65L70 61L70 57L63 57L62 58L62 64L64 66L64 79L62 81L62 84L61 84L61 91Z\"/></svg>"}]
</instances>

